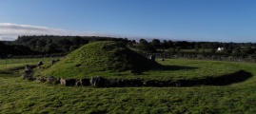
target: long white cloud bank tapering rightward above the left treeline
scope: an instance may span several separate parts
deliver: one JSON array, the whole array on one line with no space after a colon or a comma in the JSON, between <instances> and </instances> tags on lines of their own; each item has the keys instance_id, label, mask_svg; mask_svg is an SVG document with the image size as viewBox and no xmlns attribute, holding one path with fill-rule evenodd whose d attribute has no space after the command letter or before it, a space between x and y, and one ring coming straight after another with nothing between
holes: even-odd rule
<instances>
[{"instance_id":1,"label":"long white cloud bank tapering rightward above the left treeline","mask_svg":"<svg viewBox=\"0 0 256 114\"><path fill-rule=\"evenodd\" d=\"M46 28L30 25L17 25L11 23L0 23L0 40L12 41L18 35L79 35L79 36L116 36L94 31L79 32L60 28Z\"/></svg>"}]
</instances>

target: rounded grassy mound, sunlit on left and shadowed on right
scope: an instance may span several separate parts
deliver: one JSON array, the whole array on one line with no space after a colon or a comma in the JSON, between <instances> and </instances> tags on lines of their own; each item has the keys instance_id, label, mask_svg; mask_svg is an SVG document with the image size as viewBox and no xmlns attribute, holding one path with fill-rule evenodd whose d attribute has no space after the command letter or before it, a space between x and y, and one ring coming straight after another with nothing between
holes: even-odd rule
<instances>
[{"instance_id":1,"label":"rounded grassy mound, sunlit on left and shadowed on right","mask_svg":"<svg viewBox=\"0 0 256 114\"><path fill-rule=\"evenodd\" d=\"M93 72L148 70L160 67L123 43L94 42L71 52L64 60L44 71L56 77L83 77Z\"/></svg>"}]
</instances>

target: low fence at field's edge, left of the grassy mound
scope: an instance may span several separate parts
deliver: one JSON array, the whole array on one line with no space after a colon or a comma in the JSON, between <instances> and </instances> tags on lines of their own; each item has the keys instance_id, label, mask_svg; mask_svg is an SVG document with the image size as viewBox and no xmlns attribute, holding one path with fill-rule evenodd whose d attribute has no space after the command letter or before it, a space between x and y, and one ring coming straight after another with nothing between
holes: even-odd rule
<instances>
[{"instance_id":1,"label":"low fence at field's edge, left of the grassy mound","mask_svg":"<svg viewBox=\"0 0 256 114\"><path fill-rule=\"evenodd\" d=\"M50 62L52 60L60 59L60 57L49 57L49 58L12 58L12 59L0 59L0 65L8 64L22 64L22 63L36 63L36 62Z\"/></svg>"}]
</instances>

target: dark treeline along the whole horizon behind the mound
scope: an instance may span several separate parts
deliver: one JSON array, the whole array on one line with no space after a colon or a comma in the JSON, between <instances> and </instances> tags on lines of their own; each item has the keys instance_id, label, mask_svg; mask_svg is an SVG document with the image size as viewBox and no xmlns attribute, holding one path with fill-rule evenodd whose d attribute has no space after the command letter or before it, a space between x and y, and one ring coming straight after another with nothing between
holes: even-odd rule
<instances>
[{"instance_id":1,"label":"dark treeline along the whole horizon behind the mound","mask_svg":"<svg viewBox=\"0 0 256 114\"><path fill-rule=\"evenodd\" d=\"M102 36L18 36L15 41L0 41L0 58L65 56L78 47L96 41L123 42L140 53L175 53L193 55L256 56L255 43L187 42L153 39L113 38Z\"/></svg>"}]
</instances>

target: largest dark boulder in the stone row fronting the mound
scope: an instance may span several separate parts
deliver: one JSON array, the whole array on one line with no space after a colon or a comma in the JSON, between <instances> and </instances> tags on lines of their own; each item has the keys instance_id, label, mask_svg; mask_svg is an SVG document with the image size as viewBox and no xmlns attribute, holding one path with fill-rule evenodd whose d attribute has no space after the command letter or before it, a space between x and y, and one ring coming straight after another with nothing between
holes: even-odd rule
<instances>
[{"instance_id":1,"label":"largest dark boulder in the stone row fronting the mound","mask_svg":"<svg viewBox=\"0 0 256 114\"><path fill-rule=\"evenodd\" d=\"M93 76L90 79L90 85L95 87L108 87L110 85L110 82L108 79L105 79L100 76Z\"/></svg>"}]
</instances>

